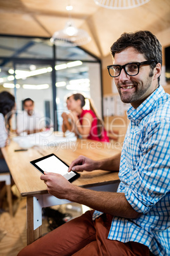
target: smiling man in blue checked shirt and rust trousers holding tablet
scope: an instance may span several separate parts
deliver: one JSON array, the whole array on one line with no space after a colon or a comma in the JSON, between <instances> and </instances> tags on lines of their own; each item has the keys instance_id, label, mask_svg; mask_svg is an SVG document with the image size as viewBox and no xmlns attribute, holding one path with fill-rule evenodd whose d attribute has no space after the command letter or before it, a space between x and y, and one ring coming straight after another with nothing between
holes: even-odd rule
<instances>
[{"instance_id":1,"label":"smiling man in blue checked shirt and rust trousers holding tablet","mask_svg":"<svg viewBox=\"0 0 170 256\"><path fill-rule=\"evenodd\" d=\"M42 175L49 194L96 211L58 227L19 255L169 255L170 97L159 85L161 45L151 32L138 31L122 34L111 52L110 75L121 100L131 103L121 160L81 156L69 171L119 168L119 188L98 192L57 174Z\"/></svg>"}]
</instances>

